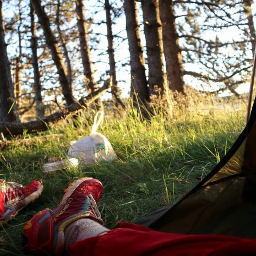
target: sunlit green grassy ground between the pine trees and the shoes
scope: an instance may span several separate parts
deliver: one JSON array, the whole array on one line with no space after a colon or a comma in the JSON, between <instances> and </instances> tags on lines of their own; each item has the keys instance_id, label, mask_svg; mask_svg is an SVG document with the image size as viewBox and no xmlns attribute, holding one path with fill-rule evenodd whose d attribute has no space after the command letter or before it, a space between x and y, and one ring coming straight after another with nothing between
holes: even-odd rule
<instances>
[{"instance_id":1,"label":"sunlit green grassy ground between the pine trees and the shoes","mask_svg":"<svg viewBox=\"0 0 256 256\"><path fill-rule=\"evenodd\" d=\"M2 151L6 161L0 160L0 178L24 185L37 179L45 189L1 228L0 255L26 255L21 244L26 221L39 210L56 208L68 183L79 177L104 184L98 205L108 228L174 203L230 149L245 126L244 106L211 102L189 110L175 108L175 118L159 114L151 121L141 121L134 110L122 117L109 113L98 132L110 141L118 159L53 175L43 174L42 165L49 157L65 157L69 141L89 135L94 115L80 113L75 121L66 119L37 136L24 133L19 139L29 143L17 140Z\"/></svg>"}]
</instances>

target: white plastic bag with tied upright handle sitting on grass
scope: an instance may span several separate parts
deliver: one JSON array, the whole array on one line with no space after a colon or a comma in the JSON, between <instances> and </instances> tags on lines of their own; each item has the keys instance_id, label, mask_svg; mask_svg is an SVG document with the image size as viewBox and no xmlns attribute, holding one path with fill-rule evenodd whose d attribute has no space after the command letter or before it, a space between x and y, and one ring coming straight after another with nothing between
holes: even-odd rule
<instances>
[{"instance_id":1,"label":"white plastic bag with tied upright handle sitting on grass","mask_svg":"<svg viewBox=\"0 0 256 256\"><path fill-rule=\"evenodd\" d=\"M97 121L99 114L100 117ZM103 116L103 112L97 112L91 134L72 143L68 150L68 159L75 158L78 159L79 164L88 165L99 161L111 162L117 158L107 138L101 133L96 132L102 122Z\"/></svg>"}]
</instances>

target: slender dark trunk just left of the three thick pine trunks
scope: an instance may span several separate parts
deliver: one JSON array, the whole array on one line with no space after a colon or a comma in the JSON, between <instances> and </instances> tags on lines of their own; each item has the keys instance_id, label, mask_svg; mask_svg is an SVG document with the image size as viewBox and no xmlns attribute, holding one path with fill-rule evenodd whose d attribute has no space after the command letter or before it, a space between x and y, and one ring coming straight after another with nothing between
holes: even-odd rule
<instances>
[{"instance_id":1,"label":"slender dark trunk just left of the three thick pine trunks","mask_svg":"<svg viewBox=\"0 0 256 256\"><path fill-rule=\"evenodd\" d=\"M120 100L120 90L117 85L117 78L116 78L116 61L115 61L115 51L113 45L113 33L112 33L112 20L111 20L111 6L108 0L105 0L105 10L106 10L106 25L107 25L107 53L108 58L110 60L110 75L112 77L112 99L115 106L118 110L122 110L123 104Z\"/></svg>"}]
</instances>

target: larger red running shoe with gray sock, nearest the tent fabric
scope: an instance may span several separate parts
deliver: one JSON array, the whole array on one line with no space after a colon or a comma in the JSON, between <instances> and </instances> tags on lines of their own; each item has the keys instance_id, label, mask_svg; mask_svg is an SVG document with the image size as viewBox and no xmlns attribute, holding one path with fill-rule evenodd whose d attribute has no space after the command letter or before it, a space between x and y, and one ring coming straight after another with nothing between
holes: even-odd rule
<instances>
[{"instance_id":1,"label":"larger red running shoe with gray sock, nearest the tent fabric","mask_svg":"<svg viewBox=\"0 0 256 256\"><path fill-rule=\"evenodd\" d=\"M103 224L97 208L102 190L101 182L94 178L80 178L71 183L55 210L39 211L26 223L25 248L33 254L63 255L65 227L85 217Z\"/></svg>"}]
</instances>

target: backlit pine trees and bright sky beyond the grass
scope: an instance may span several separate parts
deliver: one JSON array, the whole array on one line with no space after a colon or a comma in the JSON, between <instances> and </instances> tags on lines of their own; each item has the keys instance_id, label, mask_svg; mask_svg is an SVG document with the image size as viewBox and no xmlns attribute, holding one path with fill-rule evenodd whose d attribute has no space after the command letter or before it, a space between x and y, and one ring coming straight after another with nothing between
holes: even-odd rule
<instances>
[{"instance_id":1,"label":"backlit pine trees and bright sky beyond the grass","mask_svg":"<svg viewBox=\"0 0 256 256\"><path fill-rule=\"evenodd\" d=\"M104 83L102 100L118 110L130 95L148 110L160 96L171 111L191 86L238 97L255 48L252 4L1 1L0 122L48 116Z\"/></svg>"}]
</instances>

